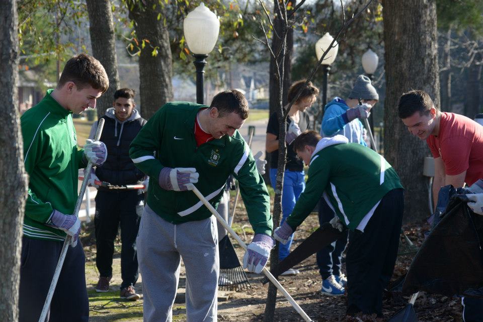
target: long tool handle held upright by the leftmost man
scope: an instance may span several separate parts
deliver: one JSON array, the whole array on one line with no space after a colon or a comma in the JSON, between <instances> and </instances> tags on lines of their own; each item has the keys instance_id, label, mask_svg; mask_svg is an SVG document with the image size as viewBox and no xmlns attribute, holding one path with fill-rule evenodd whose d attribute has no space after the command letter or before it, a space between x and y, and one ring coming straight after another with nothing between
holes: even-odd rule
<instances>
[{"instance_id":1,"label":"long tool handle held upright by the leftmost man","mask_svg":"<svg viewBox=\"0 0 483 322\"><path fill-rule=\"evenodd\" d=\"M99 141L99 139L101 138L101 133L103 128L104 128L104 119L101 119L99 120L99 125L97 127L95 141ZM92 162L91 160L89 160L85 170L86 175L84 175L84 180L82 181L81 190L79 191L79 196L77 197L77 202L75 203L73 214L75 214L76 217L78 216L79 209L81 209L82 199L84 197L84 193L86 192L87 182L89 181L89 176L90 176L89 174L91 172L91 168L92 168ZM89 216L89 214L87 214L87 216ZM39 322L45 322L45 319L47 317L47 312L50 307L50 302L52 301L52 296L54 295L55 286L57 286L57 281L59 280L60 271L62 270L62 265L64 264L65 256L67 255L67 250L70 246L71 239L72 237L69 235L67 235L67 237L65 238L64 245L62 246L62 251L60 252L59 261L57 262L57 267L55 268L54 276L52 277L52 282L50 283L49 292L47 293L47 298L45 299L44 307L42 308L42 312L40 313Z\"/></svg>"}]
</instances>

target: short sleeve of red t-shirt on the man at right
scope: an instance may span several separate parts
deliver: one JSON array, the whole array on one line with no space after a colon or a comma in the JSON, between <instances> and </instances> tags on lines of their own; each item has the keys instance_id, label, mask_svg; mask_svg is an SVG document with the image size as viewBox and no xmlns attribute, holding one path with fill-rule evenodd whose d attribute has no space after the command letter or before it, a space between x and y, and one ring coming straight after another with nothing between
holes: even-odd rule
<instances>
[{"instance_id":1,"label":"short sleeve of red t-shirt on the man at right","mask_svg":"<svg viewBox=\"0 0 483 322\"><path fill-rule=\"evenodd\" d=\"M441 142L441 158L447 175L457 175L469 168L472 142L463 136L455 136Z\"/></svg>"}]
</instances>

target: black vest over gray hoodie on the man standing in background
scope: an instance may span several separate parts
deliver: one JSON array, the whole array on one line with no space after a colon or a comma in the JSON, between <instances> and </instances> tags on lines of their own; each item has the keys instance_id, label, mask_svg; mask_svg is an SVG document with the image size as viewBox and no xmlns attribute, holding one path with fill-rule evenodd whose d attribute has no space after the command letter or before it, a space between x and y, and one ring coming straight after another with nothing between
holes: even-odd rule
<instances>
[{"instance_id":1,"label":"black vest over gray hoodie on the man standing in background","mask_svg":"<svg viewBox=\"0 0 483 322\"><path fill-rule=\"evenodd\" d=\"M107 147L106 162L96 167L96 175L101 181L113 185L136 184L144 179L144 173L134 166L129 157L129 145L146 124L137 110L132 110L131 116L120 122L115 116L115 109L109 108L105 116L104 129L100 141ZM96 135L99 122L92 125L90 139Z\"/></svg>"}]
</instances>

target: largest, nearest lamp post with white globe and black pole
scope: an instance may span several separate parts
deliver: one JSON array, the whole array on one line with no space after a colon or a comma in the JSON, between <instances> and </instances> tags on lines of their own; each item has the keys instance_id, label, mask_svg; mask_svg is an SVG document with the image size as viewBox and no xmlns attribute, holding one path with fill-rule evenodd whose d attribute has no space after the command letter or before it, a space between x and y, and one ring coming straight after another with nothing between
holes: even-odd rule
<instances>
[{"instance_id":1,"label":"largest, nearest lamp post with white globe and black pole","mask_svg":"<svg viewBox=\"0 0 483 322\"><path fill-rule=\"evenodd\" d=\"M218 40L220 21L214 13L201 3L186 16L183 22L183 31L186 44L195 57L193 63L196 67L196 102L203 104L205 58L208 57Z\"/></svg>"}]
</instances>

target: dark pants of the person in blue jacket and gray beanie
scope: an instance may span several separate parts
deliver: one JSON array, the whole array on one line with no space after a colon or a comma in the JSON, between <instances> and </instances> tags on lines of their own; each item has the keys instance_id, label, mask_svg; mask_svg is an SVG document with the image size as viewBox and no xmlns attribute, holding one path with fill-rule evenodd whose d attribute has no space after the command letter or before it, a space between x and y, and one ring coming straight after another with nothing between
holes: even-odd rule
<instances>
[{"instance_id":1,"label":"dark pants of the person in blue jacket and gray beanie","mask_svg":"<svg viewBox=\"0 0 483 322\"><path fill-rule=\"evenodd\" d=\"M318 222L320 225L330 222L336 214L327 204L324 198L318 202ZM346 249L347 233L334 243L327 245L324 249L317 252L317 266L322 279L331 275L341 275L342 252Z\"/></svg>"}]
</instances>

